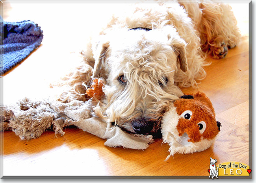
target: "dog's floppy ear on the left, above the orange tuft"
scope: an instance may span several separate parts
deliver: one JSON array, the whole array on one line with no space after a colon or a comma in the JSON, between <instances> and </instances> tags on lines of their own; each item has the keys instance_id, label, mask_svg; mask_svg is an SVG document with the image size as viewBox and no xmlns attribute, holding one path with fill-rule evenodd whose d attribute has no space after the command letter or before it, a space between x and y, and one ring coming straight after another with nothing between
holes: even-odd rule
<instances>
[{"instance_id":1,"label":"dog's floppy ear on the left, above the orange tuft","mask_svg":"<svg viewBox=\"0 0 256 183\"><path fill-rule=\"evenodd\" d=\"M98 73L100 72L100 67L102 65L102 62L106 60L108 48L109 48L109 42L104 40L99 41L98 44L94 46L93 57L95 59L95 64L93 67L92 78L97 77Z\"/></svg>"}]
</instances>

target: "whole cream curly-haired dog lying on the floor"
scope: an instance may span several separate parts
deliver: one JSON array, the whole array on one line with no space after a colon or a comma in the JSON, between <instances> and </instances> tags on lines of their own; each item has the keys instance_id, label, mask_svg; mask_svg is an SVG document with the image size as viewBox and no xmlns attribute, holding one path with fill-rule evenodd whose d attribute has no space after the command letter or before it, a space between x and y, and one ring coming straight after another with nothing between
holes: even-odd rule
<instances>
[{"instance_id":1,"label":"whole cream curly-haired dog lying on the floor","mask_svg":"<svg viewBox=\"0 0 256 183\"><path fill-rule=\"evenodd\" d=\"M102 78L105 97L92 99L95 114L132 133L156 134L179 87L197 87L206 76L205 53L223 58L239 36L227 4L137 4L92 39L59 100L88 100L91 78Z\"/></svg>"}]
</instances>

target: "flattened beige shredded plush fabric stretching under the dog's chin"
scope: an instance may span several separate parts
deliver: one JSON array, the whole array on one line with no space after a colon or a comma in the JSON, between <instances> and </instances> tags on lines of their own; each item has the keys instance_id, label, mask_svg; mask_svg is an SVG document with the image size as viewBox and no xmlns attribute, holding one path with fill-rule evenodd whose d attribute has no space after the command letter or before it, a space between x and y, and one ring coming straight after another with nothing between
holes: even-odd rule
<instances>
[{"instance_id":1,"label":"flattened beige shredded plush fabric stretching under the dog's chin","mask_svg":"<svg viewBox=\"0 0 256 183\"><path fill-rule=\"evenodd\" d=\"M39 137L46 129L54 129L56 135L64 135L63 128L74 125L102 139L109 147L146 149L154 142L152 135L130 134L111 122L105 122L93 115L90 100L74 100L62 103L28 98L15 105L0 106L0 130L12 130L22 140Z\"/></svg>"}]
</instances>

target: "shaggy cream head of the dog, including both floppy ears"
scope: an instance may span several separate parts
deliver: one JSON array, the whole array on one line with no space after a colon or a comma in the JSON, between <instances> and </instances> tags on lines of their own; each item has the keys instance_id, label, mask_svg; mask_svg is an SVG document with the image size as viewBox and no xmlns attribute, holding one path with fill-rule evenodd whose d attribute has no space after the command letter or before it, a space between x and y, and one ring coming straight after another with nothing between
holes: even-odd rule
<instances>
[{"instance_id":1,"label":"shaggy cream head of the dog, including both floppy ears","mask_svg":"<svg viewBox=\"0 0 256 183\"><path fill-rule=\"evenodd\" d=\"M171 26L123 28L102 38L94 50L93 77L107 73L106 99L96 114L133 133L156 133L169 102L182 95L174 74L178 68L187 70L184 40Z\"/></svg>"}]
</instances>

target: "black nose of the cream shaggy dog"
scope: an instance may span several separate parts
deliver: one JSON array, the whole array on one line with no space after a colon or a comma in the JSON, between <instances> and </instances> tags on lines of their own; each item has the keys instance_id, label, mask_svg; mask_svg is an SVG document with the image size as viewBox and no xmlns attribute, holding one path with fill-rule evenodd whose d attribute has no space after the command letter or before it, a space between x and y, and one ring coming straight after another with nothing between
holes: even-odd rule
<instances>
[{"instance_id":1,"label":"black nose of the cream shaggy dog","mask_svg":"<svg viewBox=\"0 0 256 183\"><path fill-rule=\"evenodd\" d=\"M136 133L148 134L154 127L153 121L137 120L132 122L132 128Z\"/></svg>"}]
</instances>

